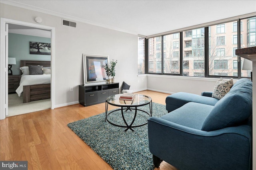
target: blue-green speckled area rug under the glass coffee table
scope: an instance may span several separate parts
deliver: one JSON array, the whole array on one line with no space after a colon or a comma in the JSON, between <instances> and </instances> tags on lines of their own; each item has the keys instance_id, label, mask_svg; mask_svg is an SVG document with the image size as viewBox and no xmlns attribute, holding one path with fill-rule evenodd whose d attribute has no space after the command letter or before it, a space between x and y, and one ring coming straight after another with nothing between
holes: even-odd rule
<instances>
[{"instance_id":1,"label":"blue-green speckled area rug under the glass coffee table","mask_svg":"<svg viewBox=\"0 0 256 170\"><path fill-rule=\"evenodd\" d=\"M149 112L148 105L139 108ZM165 105L153 102L152 108L152 116L160 117L167 113ZM133 115L134 111L124 112L124 117L129 123ZM114 170L153 170L152 154L148 148L148 125L125 132L126 128L105 122L105 117L105 113L101 113L69 123L68 127ZM138 111L133 125L145 123L148 118L149 115ZM108 120L124 125L120 111L111 113Z\"/></svg>"}]
</instances>

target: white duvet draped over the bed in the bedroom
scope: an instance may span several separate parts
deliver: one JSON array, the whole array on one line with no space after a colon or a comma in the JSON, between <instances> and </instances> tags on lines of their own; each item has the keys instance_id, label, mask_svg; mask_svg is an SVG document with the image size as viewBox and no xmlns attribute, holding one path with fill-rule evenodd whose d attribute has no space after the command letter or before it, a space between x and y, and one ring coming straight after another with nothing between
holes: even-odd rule
<instances>
[{"instance_id":1,"label":"white duvet draped over the bed in the bedroom","mask_svg":"<svg viewBox=\"0 0 256 170\"><path fill-rule=\"evenodd\" d=\"M51 83L51 74L23 75L20 78L20 86L16 89L18 96L23 92L23 86Z\"/></svg>"}]
</instances>

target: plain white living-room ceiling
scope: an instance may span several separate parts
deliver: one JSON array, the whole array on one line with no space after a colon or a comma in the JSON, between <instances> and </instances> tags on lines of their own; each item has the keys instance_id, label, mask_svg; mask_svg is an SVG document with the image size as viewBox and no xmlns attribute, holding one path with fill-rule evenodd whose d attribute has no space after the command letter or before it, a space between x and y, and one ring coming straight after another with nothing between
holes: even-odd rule
<instances>
[{"instance_id":1,"label":"plain white living-room ceiling","mask_svg":"<svg viewBox=\"0 0 256 170\"><path fill-rule=\"evenodd\" d=\"M256 0L1 0L0 2L145 36L256 12Z\"/></svg>"}]
</instances>

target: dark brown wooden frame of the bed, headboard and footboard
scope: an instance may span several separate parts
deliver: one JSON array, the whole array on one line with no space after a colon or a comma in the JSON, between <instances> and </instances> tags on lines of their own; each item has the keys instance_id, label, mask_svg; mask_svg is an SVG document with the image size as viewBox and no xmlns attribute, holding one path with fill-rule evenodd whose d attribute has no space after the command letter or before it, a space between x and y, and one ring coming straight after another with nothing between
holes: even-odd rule
<instances>
[{"instance_id":1,"label":"dark brown wooden frame of the bed, headboard and footboard","mask_svg":"<svg viewBox=\"0 0 256 170\"><path fill-rule=\"evenodd\" d=\"M51 66L51 61L20 61L20 67L29 65L49 67ZM20 72L20 75L21 74L22 72ZM23 86L23 103L49 98L51 98L51 84L35 84Z\"/></svg>"}]
</instances>

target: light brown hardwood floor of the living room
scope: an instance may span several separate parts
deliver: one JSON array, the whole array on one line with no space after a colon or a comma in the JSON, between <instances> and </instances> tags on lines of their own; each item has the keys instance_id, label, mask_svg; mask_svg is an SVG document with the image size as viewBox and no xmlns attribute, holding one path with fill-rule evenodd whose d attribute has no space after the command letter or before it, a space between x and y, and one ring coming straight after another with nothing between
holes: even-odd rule
<instances>
[{"instance_id":1,"label":"light brown hardwood floor of the living room","mask_svg":"<svg viewBox=\"0 0 256 170\"><path fill-rule=\"evenodd\" d=\"M169 94L145 90L153 102L165 104ZM109 106L109 109L114 109ZM105 111L105 103L75 104L0 120L0 160L27 160L29 170L112 170L67 124ZM155 170L176 170L162 162Z\"/></svg>"}]
</instances>

